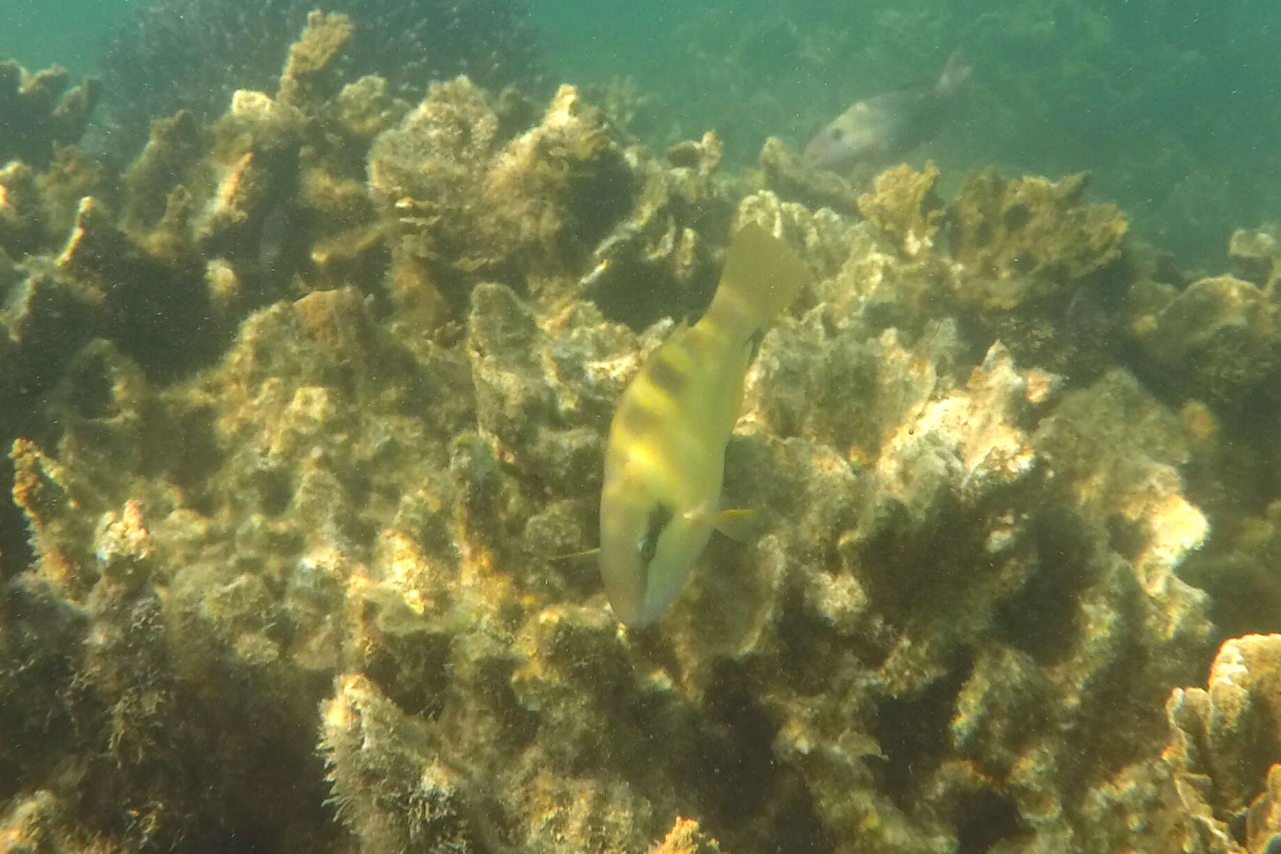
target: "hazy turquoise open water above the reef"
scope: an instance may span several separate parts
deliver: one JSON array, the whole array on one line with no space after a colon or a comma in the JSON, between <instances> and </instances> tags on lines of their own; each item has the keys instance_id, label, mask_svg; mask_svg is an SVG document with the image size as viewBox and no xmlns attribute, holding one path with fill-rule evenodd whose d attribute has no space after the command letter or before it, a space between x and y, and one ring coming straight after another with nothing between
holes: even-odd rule
<instances>
[{"instance_id":1,"label":"hazy turquoise open water above the reef","mask_svg":"<svg viewBox=\"0 0 1281 854\"><path fill-rule=\"evenodd\" d=\"M149 0L10 0L0 55L91 73ZM318 4L323 5L323 4ZM963 113L907 153L968 169L1090 169L1093 195L1186 265L1222 269L1234 228L1281 222L1281 4L1234 0L583 3L529 0L553 77L630 92L642 141L716 128L730 167L794 150L852 100L975 65ZM359 19L357 19L359 26ZM617 86L629 81L630 88ZM598 88L593 91L591 87Z\"/></svg>"}]
</instances>

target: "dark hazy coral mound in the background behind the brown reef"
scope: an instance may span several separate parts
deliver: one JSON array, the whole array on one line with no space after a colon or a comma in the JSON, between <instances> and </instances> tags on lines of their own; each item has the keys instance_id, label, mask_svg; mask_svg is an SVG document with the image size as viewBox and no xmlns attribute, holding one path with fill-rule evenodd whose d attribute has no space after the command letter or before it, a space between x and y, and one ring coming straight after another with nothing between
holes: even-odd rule
<instances>
[{"instance_id":1,"label":"dark hazy coral mound in the background behind the brown reef","mask_svg":"<svg viewBox=\"0 0 1281 854\"><path fill-rule=\"evenodd\" d=\"M120 27L104 55L95 147L128 162L147 126L179 109L206 121L238 88L272 91L279 58L315 6L310 0L155 0ZM334 76L379 74L416 100L433 80L468 74L482 86L539 90L541 56L524 9L511 0L327 4L357 28Z\"/></svg>"}]
</instances>

